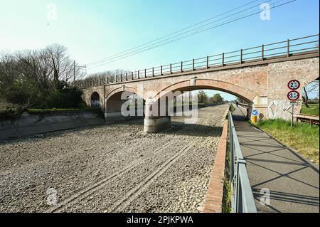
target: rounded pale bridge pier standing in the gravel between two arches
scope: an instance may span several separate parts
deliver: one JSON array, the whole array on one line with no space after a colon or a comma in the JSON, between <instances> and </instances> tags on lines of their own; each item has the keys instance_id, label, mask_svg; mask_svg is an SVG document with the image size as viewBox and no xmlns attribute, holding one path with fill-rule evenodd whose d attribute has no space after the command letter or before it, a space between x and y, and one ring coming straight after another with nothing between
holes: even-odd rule
<instances>
[{"instance_id":1,"label":"rounded pale bridge pier standing in the gravel between two arches","mask_svg":"<svg viewBox=\"0 0 320 227\"><path fill-rule=\"evenodd\" d=\"M159 102L147 99L144 112L144 132L156 133L171 127L171 117L161 116Z\"/></svg>"}]
</instances>

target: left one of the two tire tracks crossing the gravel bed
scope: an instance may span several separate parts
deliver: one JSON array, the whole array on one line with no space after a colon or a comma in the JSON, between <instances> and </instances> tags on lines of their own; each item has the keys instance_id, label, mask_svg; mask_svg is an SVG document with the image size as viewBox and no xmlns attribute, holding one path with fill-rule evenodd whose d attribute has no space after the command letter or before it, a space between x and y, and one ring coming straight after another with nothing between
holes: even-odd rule
<instances>
[{"instance_id":1,"label":"left one of the two tire tracks crossing the gravel bed","mask_svg":"<svg viewBox=\"0 0 320 227\"><path fill-rule=\"evenodd\" d=\"M155 153L161 152L162 150L166 149L170 145L171 144L166 144L166 145L164 145L164 147L160 147L159 149L156 149L154 152ZM104 187L105 185L110 184L112 181L114 181L114 179L116 177L122 176L123 174L126 174L127 172L129 172L130 170L139 166L139 164L142 164L142 162L145 162L148 159L151 159L151 157L133 162L128 167L125 167L124 169L121 169L120 171L117 171L116 173L112 174L112 176L108 176L104 179L101 179L100 181L97 181L95 184L92 184L91 186L88 186L87 188L82 189L81 191L78 191L78 193L76 193L75 195L60 202L60 204L58 204L58 206L55 206L53 208L49 208L44 213L57 212L57 211L60 211L65 206L77 204L79 201L82 201L83 199L87 198L87 196L90 196L91 194L95 193L95 191L98 191L102 187Z\"/></svg>"}]
</instances>

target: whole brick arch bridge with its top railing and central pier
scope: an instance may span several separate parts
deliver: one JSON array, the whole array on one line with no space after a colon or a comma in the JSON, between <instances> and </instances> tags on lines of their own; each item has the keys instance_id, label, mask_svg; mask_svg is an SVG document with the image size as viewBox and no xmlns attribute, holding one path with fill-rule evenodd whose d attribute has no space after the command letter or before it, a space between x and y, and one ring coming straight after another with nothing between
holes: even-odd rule
<instances>
[{"instance_id":1,"label":"whole brick arch bridge with its top railing and central pier","mask_svg":"<svg viewBox=\"0 0 320 227\"><path fill-rule=\"evenodd\" d=\"M289 80L299 80L303 87L319 80L319 35L241 49L186 62L161 65L126 75L90 82L78 81L88 105L100 102L106 122L122 120L121 100L124 91L141 94L146 110L150 100L169 91L220 90L242 98L265 119L288 120L290 102L287 99ZM153 91L154 93L149 93ZM294 107L298 114L302 107L300 97ZM158 132L170 126L170 117L154 117L145 112L144 130Z\"/></svg>"}]
</instances>

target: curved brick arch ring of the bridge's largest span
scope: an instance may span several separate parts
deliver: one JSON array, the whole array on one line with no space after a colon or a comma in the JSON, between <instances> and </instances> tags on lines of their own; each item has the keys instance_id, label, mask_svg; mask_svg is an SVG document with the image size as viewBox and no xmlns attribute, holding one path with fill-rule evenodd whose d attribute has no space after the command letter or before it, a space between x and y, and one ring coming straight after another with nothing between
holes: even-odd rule
<instances>
[{"instance_id":1,"label":"curved brick arch ring of the bridge's largest span","mask_svg":"<svg viewBox=\"0 0 320 227\"><path fill-rule=\"evenodd\" d=\"M193 83L193 84L191 84ZM232 83L220 81L220 80L212 80L212 79L198 79L196 78L194 81L191 80L183 80L178 83L171 84L166 88L163 88L159 91L153 99L158 100L161 96L166 95L169 92L176 91L192 91L192 90L220 90L225 93L229 93L231 95L235 95L240 97L242 100L245 100L248 103L251 103L255 97L260 96L260 94L255 93L254 91L248 88L242 88L238 85L234 85Z\"/></svg>"}]
</instances>

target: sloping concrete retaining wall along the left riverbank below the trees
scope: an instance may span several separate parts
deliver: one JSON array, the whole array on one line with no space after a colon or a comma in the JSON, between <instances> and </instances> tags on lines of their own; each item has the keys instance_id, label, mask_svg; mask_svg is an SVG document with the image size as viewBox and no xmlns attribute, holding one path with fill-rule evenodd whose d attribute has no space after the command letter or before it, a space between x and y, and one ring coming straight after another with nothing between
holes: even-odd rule
<instances>
[{"instance_id":1,"label":"sloping concrete retaining wall along the left riverbank below the trees","mask_svg":"<svg viewBox=\"0 0 320 227\"><path fill-rule=\"evenodd\" d=\"M23 113L17 120L0 120L0 140L104 124L95 110Z\"/></svg>"}]
</instances>

